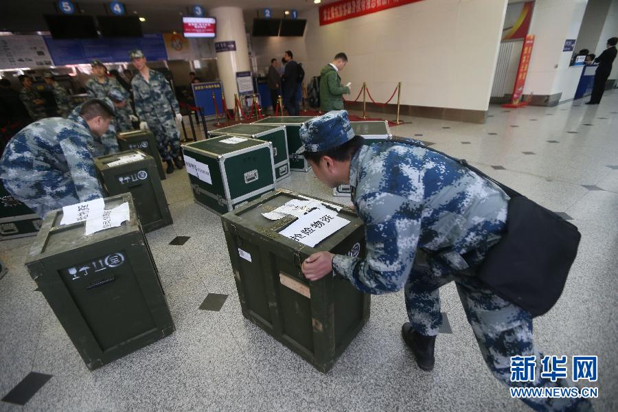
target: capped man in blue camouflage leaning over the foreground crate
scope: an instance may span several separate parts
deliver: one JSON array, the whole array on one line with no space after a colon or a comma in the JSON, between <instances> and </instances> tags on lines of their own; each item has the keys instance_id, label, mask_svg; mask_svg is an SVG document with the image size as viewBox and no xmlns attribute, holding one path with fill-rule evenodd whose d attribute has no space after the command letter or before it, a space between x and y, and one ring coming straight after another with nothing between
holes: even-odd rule
<instances>
[{"instance_id":1,"label":"capped man in blue camouflage leaning over the foreground crate","mask_svg":"<svg viewBox=\"0 0 618 412\"><path fill-rule=\"evenodd\" d=\"M396 141L363 146L346 111L301 126L304 156L330 187L350 184L365 222L367 254L318 252L302 265L315 281L334 271L365 293L404 288L409 322L402 337L417 365L431 371L442 323L439 288L455 281L468 322L492 374L509 386L569 387L540 378L529 312L501 299L475 276L505 229L508 196L494 183L426 148ZM510 357L536 355L534 382L510 381ZM536 411L587 411L584 399L526 398Z\"/></svg>"}]
</instances>

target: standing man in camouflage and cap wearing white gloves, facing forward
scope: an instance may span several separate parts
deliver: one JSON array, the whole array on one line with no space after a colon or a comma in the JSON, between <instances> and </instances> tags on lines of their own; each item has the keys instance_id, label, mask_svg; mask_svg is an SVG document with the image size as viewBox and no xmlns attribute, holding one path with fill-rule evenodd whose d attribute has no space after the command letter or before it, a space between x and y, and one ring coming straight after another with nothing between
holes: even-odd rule
<instances>
[{"instance_id":1,"label":"standing man in camouflage and cap wearing white gloves, facing forward","mask_svg":"<svg viewBox=\"0 0 618 412\"><path fill-rule=\"evenodd\" d=\"M167 173L174 172L174 165L182 169L184 162L180 153L180 133L176 122L181 122L183 115L180 113L178 100L165 76L159 71L150 70L146 65L146 57L141 50L133 50L129 56L138 70L131 80L131 88L135 111L141 122L139 128L150 129L157 138L161 159L168 163Z\"/></svg>"}]
</instances>

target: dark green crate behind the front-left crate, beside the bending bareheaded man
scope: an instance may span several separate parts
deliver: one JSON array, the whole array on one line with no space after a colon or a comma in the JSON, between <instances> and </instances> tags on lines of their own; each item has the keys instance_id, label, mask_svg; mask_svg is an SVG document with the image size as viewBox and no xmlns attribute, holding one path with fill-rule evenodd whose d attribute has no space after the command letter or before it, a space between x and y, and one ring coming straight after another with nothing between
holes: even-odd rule
<instances>
[{"instance_id":1,"label":"dark green crate behind the front-left crate, beside the bending bareheaded man","mask_svg":"<svg viewBox=\"0 0 618 412\"><path fill-rule=\"evenodd\" d=\"M96 157L95 168L109 196L130 192L144 232L172 225L155 159L139 150Z\"/></svg>"}]
</instances>

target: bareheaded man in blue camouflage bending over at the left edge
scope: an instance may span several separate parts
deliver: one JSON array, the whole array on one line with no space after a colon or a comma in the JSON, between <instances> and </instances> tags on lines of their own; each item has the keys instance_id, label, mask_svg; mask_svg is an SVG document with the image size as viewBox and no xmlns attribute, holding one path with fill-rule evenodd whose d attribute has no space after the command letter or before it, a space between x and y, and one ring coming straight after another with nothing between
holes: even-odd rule
<instances>
[{"instance_id":1,"label":"bareheaded man in blue camouflage bending over at the left edge","mask_svg":"<svg viewBox=\"0 0 618 412\"><path fill-rule=\"evenodd\" d=\"M89 144L113 111L101 100L82 105L78 121L50 117L17 133L0 159L0 179L17 200L44 218L49 211L103 197Z\"/></svg>"}]
</instances>

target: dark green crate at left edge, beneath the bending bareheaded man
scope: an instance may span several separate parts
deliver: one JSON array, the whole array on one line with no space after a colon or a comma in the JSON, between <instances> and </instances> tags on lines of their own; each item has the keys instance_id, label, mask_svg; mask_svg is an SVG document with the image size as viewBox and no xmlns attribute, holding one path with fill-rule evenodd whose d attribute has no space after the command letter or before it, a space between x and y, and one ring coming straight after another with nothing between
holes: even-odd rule
<instances>
[{"instance_id":1,"label":"dark green crate at left edge, beneath the bending bareheaded man","mask_svg":"<svg viewBox=\"0 0 618 412\"><path fill-rule=\"evenodd\" d=\"M0 240L35 236L42 222L30 207L14 198L0 180Z\"/></svg>"}]
</instances>

